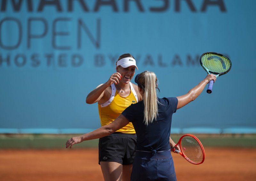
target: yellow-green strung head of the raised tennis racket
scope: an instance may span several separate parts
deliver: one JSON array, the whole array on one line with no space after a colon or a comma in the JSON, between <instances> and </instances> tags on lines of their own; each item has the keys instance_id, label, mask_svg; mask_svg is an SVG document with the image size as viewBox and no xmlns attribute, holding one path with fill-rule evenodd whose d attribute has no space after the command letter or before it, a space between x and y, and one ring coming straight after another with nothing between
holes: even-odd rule
<instances>
[{"instance_id":1,"label":"yellow-green strung head of the raised tennis racket","mask_svg":"<svg viewBox=\"0 0 256 181\"><path fill-rule=\"evenodd\" d=\"M226 57L218 54L205 54L201 61L206 69L217 74L226 72L231 65Z\"/></svg>"}]
</instances>

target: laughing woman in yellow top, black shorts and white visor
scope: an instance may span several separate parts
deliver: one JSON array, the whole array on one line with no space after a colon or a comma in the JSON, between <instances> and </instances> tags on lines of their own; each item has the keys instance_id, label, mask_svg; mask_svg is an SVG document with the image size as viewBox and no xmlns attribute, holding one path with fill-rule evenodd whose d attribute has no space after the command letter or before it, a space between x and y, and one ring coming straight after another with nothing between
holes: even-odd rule
<instances>
[{"instance_id":1,"label":"laughing woman in yellow top, black shorts and white visor","mask_svg":"<svg viewBox=\"0 0 256 181\"><path fill-rule=\"evenodd\" d=\"M138 70L134 57L121 55L116 62L116 73L87 95L87 104L98 102L101 126L110 124L128 106L142 100L138 86L130 82L135 69ZM130 180L136 141L132 123L99 139L99 164L105 181ZM175 145L171 139L170 145Z\"/></svg>"}]
</instances>

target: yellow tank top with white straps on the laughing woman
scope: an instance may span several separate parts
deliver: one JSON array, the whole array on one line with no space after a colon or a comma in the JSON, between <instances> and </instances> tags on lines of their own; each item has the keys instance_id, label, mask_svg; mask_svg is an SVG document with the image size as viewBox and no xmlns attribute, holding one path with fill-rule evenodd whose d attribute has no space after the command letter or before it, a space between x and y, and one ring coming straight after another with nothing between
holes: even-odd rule
<instances>
[{"instance_id":1,"label":"yellow tank top with white straps on the laughing woman","mask_svg":"<svg viewBox=\"0 0 256 181\"><path fill-rule=\"evenodd\" d=\"M116 91L114 84L111 84L112 94L110 99L104 104L98 104L101 126L105 126L113 122L128 106L138 102L136 92L130 83L131 93L126 98L121 97ZM117 130L116 132L135 134L132 123L130 122L125 127Z\"/></svg>"}]
</instances>

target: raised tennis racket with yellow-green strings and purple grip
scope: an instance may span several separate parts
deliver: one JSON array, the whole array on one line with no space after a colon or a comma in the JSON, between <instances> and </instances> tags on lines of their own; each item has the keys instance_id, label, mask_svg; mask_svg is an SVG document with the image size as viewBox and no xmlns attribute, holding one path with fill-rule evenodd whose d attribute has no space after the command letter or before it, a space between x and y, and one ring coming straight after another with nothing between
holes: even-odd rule
<instances>
[{"instance_id":1,"label":"raised tennis racket with yellow-green strings and purple grip","mask_svg":"<svg viewBox=\"0 0 256 181\"><path fill-rule=\"evenodd\" d=\"M200 64L207 74L216 74L216 78L229 72L231 61L228 57L214 52L204 53L200 57ZM213 80L209 82L207 93L212 93Z\"/></svg>"}]
</instances>

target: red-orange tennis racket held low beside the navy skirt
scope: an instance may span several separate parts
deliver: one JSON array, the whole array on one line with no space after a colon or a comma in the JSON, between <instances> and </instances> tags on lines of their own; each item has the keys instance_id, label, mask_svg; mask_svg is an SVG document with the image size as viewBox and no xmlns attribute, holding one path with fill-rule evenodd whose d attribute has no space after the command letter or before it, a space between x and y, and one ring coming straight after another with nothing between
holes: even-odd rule
<instances>
[{"instance_id":1,"label":"red-orange tennis racket held low beside the navy skirt","mask_svg":"<svg viewBox=\"0 0 256 181\"><path fill-rule=\"evenodd\" d=\"M180 146L180 150L175 149ZM202 143L192 134L181 136L179 142L175 145L173 151L183 156L189 163L199 165L204 162L204 147Z\"/></svg>"}]
</instances>

